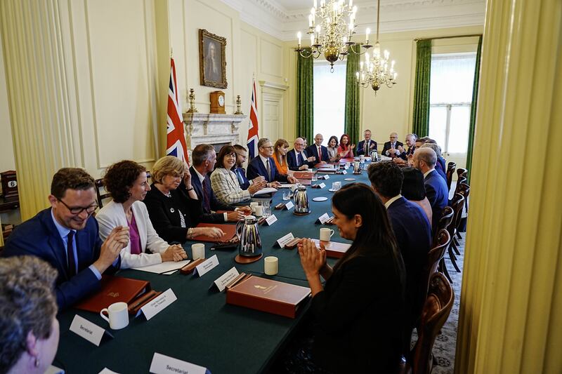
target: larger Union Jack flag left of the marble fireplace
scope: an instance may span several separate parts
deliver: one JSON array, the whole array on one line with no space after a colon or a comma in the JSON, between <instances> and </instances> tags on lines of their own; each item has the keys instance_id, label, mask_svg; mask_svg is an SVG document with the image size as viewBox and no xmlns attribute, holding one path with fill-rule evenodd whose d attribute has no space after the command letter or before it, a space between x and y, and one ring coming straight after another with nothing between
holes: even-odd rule
<instances>
[{"instance_id":1,"label":"larger Union Jack flag left of the marble fireplace","mask_svg":"<svg viewBox=\"0 0 562 374\"><path fill-rule=\"evenodd\" d=\"M181 115L178 86L176 85L176 64L174 64L174 58L170 60L166 155L176 156L178 159L188 162L188 146L185 144L185 135L183 135L183 116Z\"/></svg>"}]
</instances>

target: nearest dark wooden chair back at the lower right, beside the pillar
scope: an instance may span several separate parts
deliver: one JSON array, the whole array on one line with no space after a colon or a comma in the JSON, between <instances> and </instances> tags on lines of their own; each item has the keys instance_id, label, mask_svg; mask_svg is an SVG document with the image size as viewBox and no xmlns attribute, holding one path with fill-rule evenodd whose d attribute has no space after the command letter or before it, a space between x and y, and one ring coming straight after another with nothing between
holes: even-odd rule
<instances>
[{"instance_id":1,"label":"nearest dark wooden chair back at the lower right, beside the pillar","mask_svg":"<svg viewBox=\"0 0 562 374\"><path fill-rule=\"evenodd\" d=\"M429 374L433 369L433 343L443 327L455 301L451 283L440 273L434 273L429 280L429 290L421 312L418 340L406 362L405 373Z\"/></svg>"}]
</instances>

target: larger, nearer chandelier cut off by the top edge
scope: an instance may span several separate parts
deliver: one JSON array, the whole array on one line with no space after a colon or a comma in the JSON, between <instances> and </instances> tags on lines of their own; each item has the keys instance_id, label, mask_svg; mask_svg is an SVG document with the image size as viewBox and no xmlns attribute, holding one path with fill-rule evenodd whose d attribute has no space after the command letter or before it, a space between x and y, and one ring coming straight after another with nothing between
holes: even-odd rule
<instances>
[{"instance_id":1,"label":"larger, nearer chandelier cut off by the top edge","mask_svg":"<svg viewBox=\"0 0 562 374\"><path fill-rule=\"evenodd\" d=\"M303 58L319 58L324 55L329 62L330 71L334 72L334 62L344 60L346 55L354 53L361 55L361 48L365 51L372 46L369 44L370 29L365 34L365 44L358 47L351 41L355 34L355 13L357 6L353 6L353 0L313 0L311 14L308 15L308 32L311 38L310 51L301 46L301 32L296 34L299 38L299 46L295 49ZM317 18L320 21L317 22ZM346 21L348 20L348 21Z\"/></svg>"}]
</instances>

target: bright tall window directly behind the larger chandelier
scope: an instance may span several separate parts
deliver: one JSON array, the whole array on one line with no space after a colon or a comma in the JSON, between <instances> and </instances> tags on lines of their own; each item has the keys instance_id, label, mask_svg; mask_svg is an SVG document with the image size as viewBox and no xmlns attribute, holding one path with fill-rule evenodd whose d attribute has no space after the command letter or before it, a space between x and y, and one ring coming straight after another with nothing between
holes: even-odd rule
<instances>
[{"instance_id":1,"label":"bright tall window directly behind the larger chandelier","mask_svg":"<svg viewBox=\"0 0 562 374\"><path fill-rule=\"evenodd\" d=\"M314 61L314 133L324 135L326 145L332 135L344 133L346 109L346 62L334 64L329 72L325 60ZM314 142L308 139L308 144Z\"/></svg>"}]
</instances>

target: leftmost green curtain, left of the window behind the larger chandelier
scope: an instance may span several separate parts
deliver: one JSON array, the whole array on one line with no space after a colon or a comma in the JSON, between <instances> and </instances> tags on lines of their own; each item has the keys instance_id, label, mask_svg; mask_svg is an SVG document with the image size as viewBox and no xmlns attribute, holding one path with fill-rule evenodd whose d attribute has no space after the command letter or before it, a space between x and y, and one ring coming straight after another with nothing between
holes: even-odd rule
<instances>
[{"instance_id":1,"label":"leftmost green curtain, left of the window behind the larger chandelier","mask_svg":"<svg viewBox=\"0 0 562 374\"><path fill-rule=\"evenodd\" d=\"M310 52L306 48L303 53ZM314 59L296 55L296 136L305 137L311 145L314 142Z\"/></svg>"}]
</instances>

